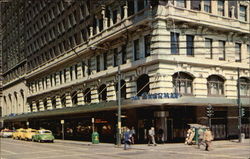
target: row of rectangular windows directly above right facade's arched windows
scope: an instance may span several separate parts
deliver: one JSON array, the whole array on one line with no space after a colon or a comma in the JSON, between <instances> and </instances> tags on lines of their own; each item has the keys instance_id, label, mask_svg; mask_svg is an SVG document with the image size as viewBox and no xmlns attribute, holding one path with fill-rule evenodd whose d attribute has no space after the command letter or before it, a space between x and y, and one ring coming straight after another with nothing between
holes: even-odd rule
<instances>
[{"instance_id":1,"label":"row of rectangular windows directly above right facade's arched windows","mask_svg":"<svg viewBox=\"0 0 250 159\"><path fill-rule=\"evenodd\" d=\"M197 41L197 43L200 43L200 41ZM206 57L213 58L214 55L219 56L219 60L226 60L226 41L219 40L218 46L214 46L214 40L210 38L205 38L204 40L205 47L203 49L205 50ZM217 50L214 51L214 48ZM198 47L195 47L195 36L194 35L186 35L186 54L188 56L194 56L195 55L195 49L198 49ZM200 48L199 48L200 49ZM234 48L230 48L235 50L235 61L241 62L242 60L242 44L241 43L235 43ZM250 45L247 45L247 52L250 55ZM180 34L171 32L171 54L179 54L180 53ZM197 52L199 54L200 52Z\"/></svg>"}]
</instances>

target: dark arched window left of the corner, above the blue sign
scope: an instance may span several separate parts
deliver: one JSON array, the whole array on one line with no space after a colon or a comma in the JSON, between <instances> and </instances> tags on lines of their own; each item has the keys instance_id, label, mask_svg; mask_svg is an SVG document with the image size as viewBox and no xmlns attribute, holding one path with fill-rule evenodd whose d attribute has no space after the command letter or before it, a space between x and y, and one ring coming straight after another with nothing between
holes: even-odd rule
<instances>
[{"instance_id":1,"label":"dark arched window left of the corner, above the blue sign","mask_svg":"<svg viewBox=\"0 0 250 159\"><path fill-rule=\"evenodd\" d=\"M136 81L136 86L137 86L137 96L141 96L144 93L148 93L149 92L149 76L146 74L141 75Z\"/></svg>"}]
</instances>

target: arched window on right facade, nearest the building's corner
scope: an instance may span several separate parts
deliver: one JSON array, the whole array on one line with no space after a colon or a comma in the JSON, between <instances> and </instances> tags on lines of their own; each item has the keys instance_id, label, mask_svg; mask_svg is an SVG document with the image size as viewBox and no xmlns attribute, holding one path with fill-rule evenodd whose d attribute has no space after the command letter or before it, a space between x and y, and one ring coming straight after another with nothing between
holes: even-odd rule
<instances>
[{"instance_id":1,"label":"arched window on right facade, nearest the building's corner","mask_svg":"<svg viewBox=\"0 0 250 159\"><path fill-rule=\"evenodd\" d=\"M193 94L193 77L184 72L177 72L173 75L173 86L175 93Z\"/></svg>"}]
</instances>

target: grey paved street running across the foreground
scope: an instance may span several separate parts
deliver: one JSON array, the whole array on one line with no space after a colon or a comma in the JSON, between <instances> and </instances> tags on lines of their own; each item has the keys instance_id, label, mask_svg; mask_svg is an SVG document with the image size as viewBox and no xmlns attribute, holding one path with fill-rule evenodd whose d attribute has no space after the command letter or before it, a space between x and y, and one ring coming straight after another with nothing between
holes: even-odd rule
<instances>
[{"instance_id":1,"label":"grey paved street running across the foreground","mask_svg":"<svg viewBox=\"0 0 250 159\"><path fill-rule=\"evenodd\" d=\"M248 159L250 140L239 144L232 141L213 142L213 150L184 144L154 146L133 145L130 150L112 144L92 145L89 142L62 141L37 143L1 139L1 159Z\"/></svg>"}]
</instances>

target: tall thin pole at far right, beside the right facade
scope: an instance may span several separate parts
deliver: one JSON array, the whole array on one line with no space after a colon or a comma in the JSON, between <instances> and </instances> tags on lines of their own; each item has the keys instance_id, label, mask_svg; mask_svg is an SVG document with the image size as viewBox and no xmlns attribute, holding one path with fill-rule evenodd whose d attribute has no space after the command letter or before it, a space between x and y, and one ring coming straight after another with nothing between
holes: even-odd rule
<instances>
[{"instance_id":1,"label":"tall thin pole at far right, beside the right facade","mask_svg":"<svg viewBox=\"0 0 250 159\"><path fill-rule=\"evenodd\" d=\"M237 68L238 77L237 77L237 104L238 104L238 129L239 129L239 142L241 142L241 102L240 102L240 68Z\"/></svg>"}]
</instances>

